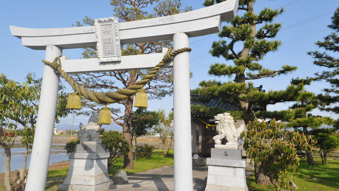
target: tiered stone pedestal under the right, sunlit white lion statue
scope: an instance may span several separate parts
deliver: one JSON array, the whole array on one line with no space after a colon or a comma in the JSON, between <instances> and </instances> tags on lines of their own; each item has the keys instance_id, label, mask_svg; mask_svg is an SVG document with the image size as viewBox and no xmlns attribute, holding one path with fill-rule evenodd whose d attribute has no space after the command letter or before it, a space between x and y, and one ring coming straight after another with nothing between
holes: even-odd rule
<instances>
[{"instance_id":1,"label":"tiered stone pedestal under the right, sunlit white lion statue","mask_svg":"<svg viewBox=\"0 0 339 191\"><path fill-rule=\"evenodd\" d=\"M205 191L248 191L245 176L246 160L242 150L212 148L206 159L208 176Z\"/></svg>"}]
</instances>

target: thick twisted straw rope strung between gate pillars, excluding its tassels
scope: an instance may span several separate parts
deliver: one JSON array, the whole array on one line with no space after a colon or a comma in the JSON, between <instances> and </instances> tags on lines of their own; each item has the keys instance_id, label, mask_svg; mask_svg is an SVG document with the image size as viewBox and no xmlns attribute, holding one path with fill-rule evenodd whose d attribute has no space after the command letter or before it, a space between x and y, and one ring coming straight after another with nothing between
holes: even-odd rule
<instances>
[{"instance_id":1,"label":"thick twisted straw rope strung between gate pillars, excluding its tassels","mask_svg":"<svg viewBox=\"0 0 339 191\"><path fill-rule=\"evenodd\" d=\"M74 81L68 74L62 70L61 68L61 61L60 56L56 57L53 62L48 62L46 60L42 60L43 63L52 66L53 69L60 72L61 76L72 86L72 88L79 94L84 96L86 99L95 101L100 104L107 104L107 103L116 103L120 100L126 99L133 94L137 93L138 89L142 89L148 81L158 72L162 65L165 62L171 60L175 55L184 52L184 51L191 51L191 48L185 47L182 49L178 49L173 51L173 48L170 47L167 53L164 55L164 58L150 71L146 76L144 76L140 81L137 81L135 85L129 86L126 89L120 89L115 92L95 92L90 91L88 89L84 89L81 85L79 85L76 81ZM172 52L172 53L171 53ZM57 63L58 61L58 63Z\"/></svg>"}]
</instances>

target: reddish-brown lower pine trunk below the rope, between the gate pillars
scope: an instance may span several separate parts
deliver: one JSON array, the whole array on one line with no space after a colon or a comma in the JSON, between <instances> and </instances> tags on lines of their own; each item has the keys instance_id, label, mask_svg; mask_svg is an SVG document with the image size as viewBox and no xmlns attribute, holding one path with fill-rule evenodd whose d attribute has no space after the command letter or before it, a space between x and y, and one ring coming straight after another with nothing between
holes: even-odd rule
<instances>
[{"instance_id":1,"label":"reddish-brown lower pine trunk below the rope, between the gate pillars","mask_svg":"<svg viewBox=\"0 0 339 191\"><path fill-rule=\"evenodd\" d=\"M132 136L131 136L131 128L132 128L132 110L133 110L133 96L126 99L125 105L125 115L124 115L124 124L122 126L123 133L122 135L125 137L129 144L129 152L128 155L124 156L124 169L133 169L133 144L132 144Z\"/></svg>"}]
</instances>

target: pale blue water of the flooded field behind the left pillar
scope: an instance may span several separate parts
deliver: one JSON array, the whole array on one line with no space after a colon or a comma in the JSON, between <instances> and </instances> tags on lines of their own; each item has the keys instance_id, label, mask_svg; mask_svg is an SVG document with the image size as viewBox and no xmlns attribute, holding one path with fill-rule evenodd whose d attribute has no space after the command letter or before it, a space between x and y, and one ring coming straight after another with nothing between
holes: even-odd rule
<instances>
[{"instance_id":1,"label":"pale blue water of the flooded field behind the left pillar","mask_svg":"<svg viewBox=\"0 0 339 191\"><path fill-rule=\"evenodd\" d=\"M64 144L53 144L53 145L64 145ZM49 157L49 164L57 163L60 161L68 160L66 150L64 147L53 147L51 148L51 156ZM11 171L23 168L23 158L26 148L11 148ZM4 149L0 148L0 172L5 172L5 158ZM29 167L29 161L31 156L27 158L27 168Z\"/></svg>"}]
</instances>

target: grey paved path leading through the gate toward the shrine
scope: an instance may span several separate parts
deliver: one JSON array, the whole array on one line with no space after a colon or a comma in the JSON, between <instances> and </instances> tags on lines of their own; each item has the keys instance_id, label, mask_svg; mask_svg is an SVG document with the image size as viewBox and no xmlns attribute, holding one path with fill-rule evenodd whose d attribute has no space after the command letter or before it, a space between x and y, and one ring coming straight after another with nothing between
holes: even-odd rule
<instances>
[{"instance_id":1,"label":"grey paved path leading through the gate toward the shrine","mask_svg":"<svg viewBox=\"0 0 339 191\"><path fill-rule=\"evenodd\" d=\"M246 170L246 177L253 171ZM169 191L174 190L174 167L162 167L128 175L128 184L114 185L100 191ZM207 167L193 167L193 190L203 190L207 179Z\"/></svg>"}]
</instances>

